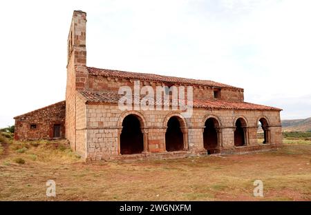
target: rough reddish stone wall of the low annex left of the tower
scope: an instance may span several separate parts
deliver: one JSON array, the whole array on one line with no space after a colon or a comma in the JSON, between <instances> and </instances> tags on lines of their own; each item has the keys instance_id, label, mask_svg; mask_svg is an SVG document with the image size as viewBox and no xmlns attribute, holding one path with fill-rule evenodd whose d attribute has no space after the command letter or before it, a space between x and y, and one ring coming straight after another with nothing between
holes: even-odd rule
<instances>
[{"instance_id":1,"label":"rough reddish stone wall of the low annex left of the tower","mask_svg":"<svg viewBox=\"0 0 311 215\"><path fill-rule=\"evenodd\" d=\"M61 125L61 138L65 137L66 103L61 101L39 110L34 110L15 119L15 140L53 139L54 125ZM35 128L30 128L35 125Z\"/></svg>"}]
</instances>

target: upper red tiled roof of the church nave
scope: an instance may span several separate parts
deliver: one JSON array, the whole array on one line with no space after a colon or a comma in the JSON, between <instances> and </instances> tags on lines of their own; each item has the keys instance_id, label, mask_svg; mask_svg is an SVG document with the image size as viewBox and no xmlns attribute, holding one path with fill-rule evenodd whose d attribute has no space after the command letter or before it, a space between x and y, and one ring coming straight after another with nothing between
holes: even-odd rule
<instances>
[{"instance_id":1,"label":"upper red tiled roof of the church nave","mask_svg":"<svg viewBox=\"0 0 311 215\"><path fill-rule=\"evenodd\" d=\"M185 79L174 76L164 76L159 74L148 74L140 72L124 72L119 70L106 70L88 67L88 73L95 76L115 77L120 79L138 79L141 81L158 81L161 83L176 83L185 85L204 85L215 88L231 88L236 90L243 90L243 88L236 88L231 85L218 83L215 81L208 80L197 80L197 79Z\"/></svg>"}]
</instances>

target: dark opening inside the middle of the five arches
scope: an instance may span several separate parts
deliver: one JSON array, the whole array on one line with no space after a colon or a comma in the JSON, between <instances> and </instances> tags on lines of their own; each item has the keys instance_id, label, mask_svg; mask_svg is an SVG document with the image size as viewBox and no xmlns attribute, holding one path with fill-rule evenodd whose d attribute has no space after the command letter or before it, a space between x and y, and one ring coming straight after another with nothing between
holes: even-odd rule
<instances>
[{"instance_id":1,"label":"dark opening inside the middle of the five arches","mask_svg":"<svg viewBox=\"0 0 311 215\"><path fill-rule=\"evenodd\" d=\"M205 121L205 128L203 132L204 148L207 150L207 154L216 153L216 147L218 147L218 132L216 128L219 127L219 123L214 118L209 118Z\"/></svg>"}]
</instances>

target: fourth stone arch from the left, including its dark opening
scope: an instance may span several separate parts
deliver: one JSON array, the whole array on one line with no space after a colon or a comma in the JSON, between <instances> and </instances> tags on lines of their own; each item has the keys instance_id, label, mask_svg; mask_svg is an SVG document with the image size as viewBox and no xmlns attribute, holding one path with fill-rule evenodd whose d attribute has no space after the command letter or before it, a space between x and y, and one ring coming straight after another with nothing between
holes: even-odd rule
<instances>
[{"instance_id":1,"label":"fourth stone arch from the left, including its dark opening","mask_svg":"<svg viewBox=\"0 0 311 215\"><path fill-rule=\"evenodd\" d=\"M243 146L248 145L249 132L245 117L238 116L234 120L234 145Z\"/></svg>"}]
</instances>

